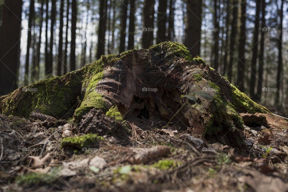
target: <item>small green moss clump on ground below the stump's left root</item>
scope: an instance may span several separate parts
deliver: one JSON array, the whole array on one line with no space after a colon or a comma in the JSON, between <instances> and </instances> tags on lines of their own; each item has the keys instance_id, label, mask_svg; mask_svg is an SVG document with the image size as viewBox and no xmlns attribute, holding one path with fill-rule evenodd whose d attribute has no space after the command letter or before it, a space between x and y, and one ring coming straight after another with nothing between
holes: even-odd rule
<instances>
[{"instance_id":1,"label":"small green moss clump on ground below the stump's left root","mask_svg":"<svg viewBox=\"0 0 288 192\"><path fill-rule=\"evenodd\" d=\"M78 149L95 146L103 137L97 134L86 134L78 137L66 137L61 141L61 147L72 146Z\"/></svg>"}]
</instances>

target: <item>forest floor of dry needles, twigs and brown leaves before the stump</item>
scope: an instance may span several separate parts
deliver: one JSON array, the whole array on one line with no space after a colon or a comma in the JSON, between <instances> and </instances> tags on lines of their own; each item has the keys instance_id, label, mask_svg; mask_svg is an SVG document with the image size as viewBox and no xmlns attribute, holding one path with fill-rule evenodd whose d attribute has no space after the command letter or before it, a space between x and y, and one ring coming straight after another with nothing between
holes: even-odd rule
<instances>
[{"instance_id":1,"label":"forest floor of dry needles, twigs and brown leaves before the stump","mask_svg":"<svg viewBox=\"0 0 288 192\"><path fill-rule=\"evenodd\" d=\"M244 149L162 129L162 121L146 130L127 123L127 141L90 135L66 145L73 123L0 115L1 191L287 191L288 122L241 116Z\"/></svg>"}]
</instances>

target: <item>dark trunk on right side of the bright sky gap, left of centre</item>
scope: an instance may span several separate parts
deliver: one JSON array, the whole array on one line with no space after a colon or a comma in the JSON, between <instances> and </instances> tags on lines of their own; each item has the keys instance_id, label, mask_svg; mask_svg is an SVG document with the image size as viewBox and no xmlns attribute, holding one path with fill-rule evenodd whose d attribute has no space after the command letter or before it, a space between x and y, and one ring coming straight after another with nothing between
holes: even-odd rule
<instances>
[{"instance_id":1,"label":"dark trunk on right side of the bright sky gap, left of centre","mask_svg":"<svg viewBox=\"0 0 288 192\"><path fill-rule=\"evenodd\" d=\"M100 1L100 20L98 27L98 46L97 46L97 59L100 59L105 54L105 32L106 32L106 14L107 13L107 0Z\"/></svg>"}]
</instances>

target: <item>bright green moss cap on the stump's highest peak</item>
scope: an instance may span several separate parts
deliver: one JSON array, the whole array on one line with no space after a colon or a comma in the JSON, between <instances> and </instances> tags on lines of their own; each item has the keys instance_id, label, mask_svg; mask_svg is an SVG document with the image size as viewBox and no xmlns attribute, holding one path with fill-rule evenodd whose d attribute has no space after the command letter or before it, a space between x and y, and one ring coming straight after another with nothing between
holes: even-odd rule
<instances>
[{"instance_id":1,"label":"bright green moss cap on the stump's highest peak","mask_svg":"<svg viewBox=\"0 0 288 192\"><path fill-rule=\"evenodd\" d=\"M189 50L187 49L187 47L185 47L183 44L177 43L177 42L162 42L160 44L156 44L153 46L150 46L149 49L154 49L156 50L156 52L162 52L160 50L157 51L157 49L163 49L164 52L167 52L166 54L174 54L176 55L176 57L180 57L183 58L185 61L189 61L189 62L193 62L194 60L189 52Z\"/></svg>"}]
</instances>

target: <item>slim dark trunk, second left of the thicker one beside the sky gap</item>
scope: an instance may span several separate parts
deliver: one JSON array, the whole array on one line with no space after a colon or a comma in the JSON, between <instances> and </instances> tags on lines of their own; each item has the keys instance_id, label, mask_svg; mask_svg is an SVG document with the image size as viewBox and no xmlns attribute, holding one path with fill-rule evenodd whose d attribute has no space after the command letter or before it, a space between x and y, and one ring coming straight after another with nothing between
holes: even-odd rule
<instances>
[{"instance_id":1,"label":"slim dark trunk, second left of the thicker one beside the sky gap","mask_svg":"<svg viewBox=\"0 0 288 192\"><path fill-rule=\"evenodd\" d=\"M61 76L62 70L62 55L63 55L63 12L64 12L64 2L60 1L60 27L59 27L59 46L58 46L58 68L57 75Z\"/></svg>"}]
</instances>

